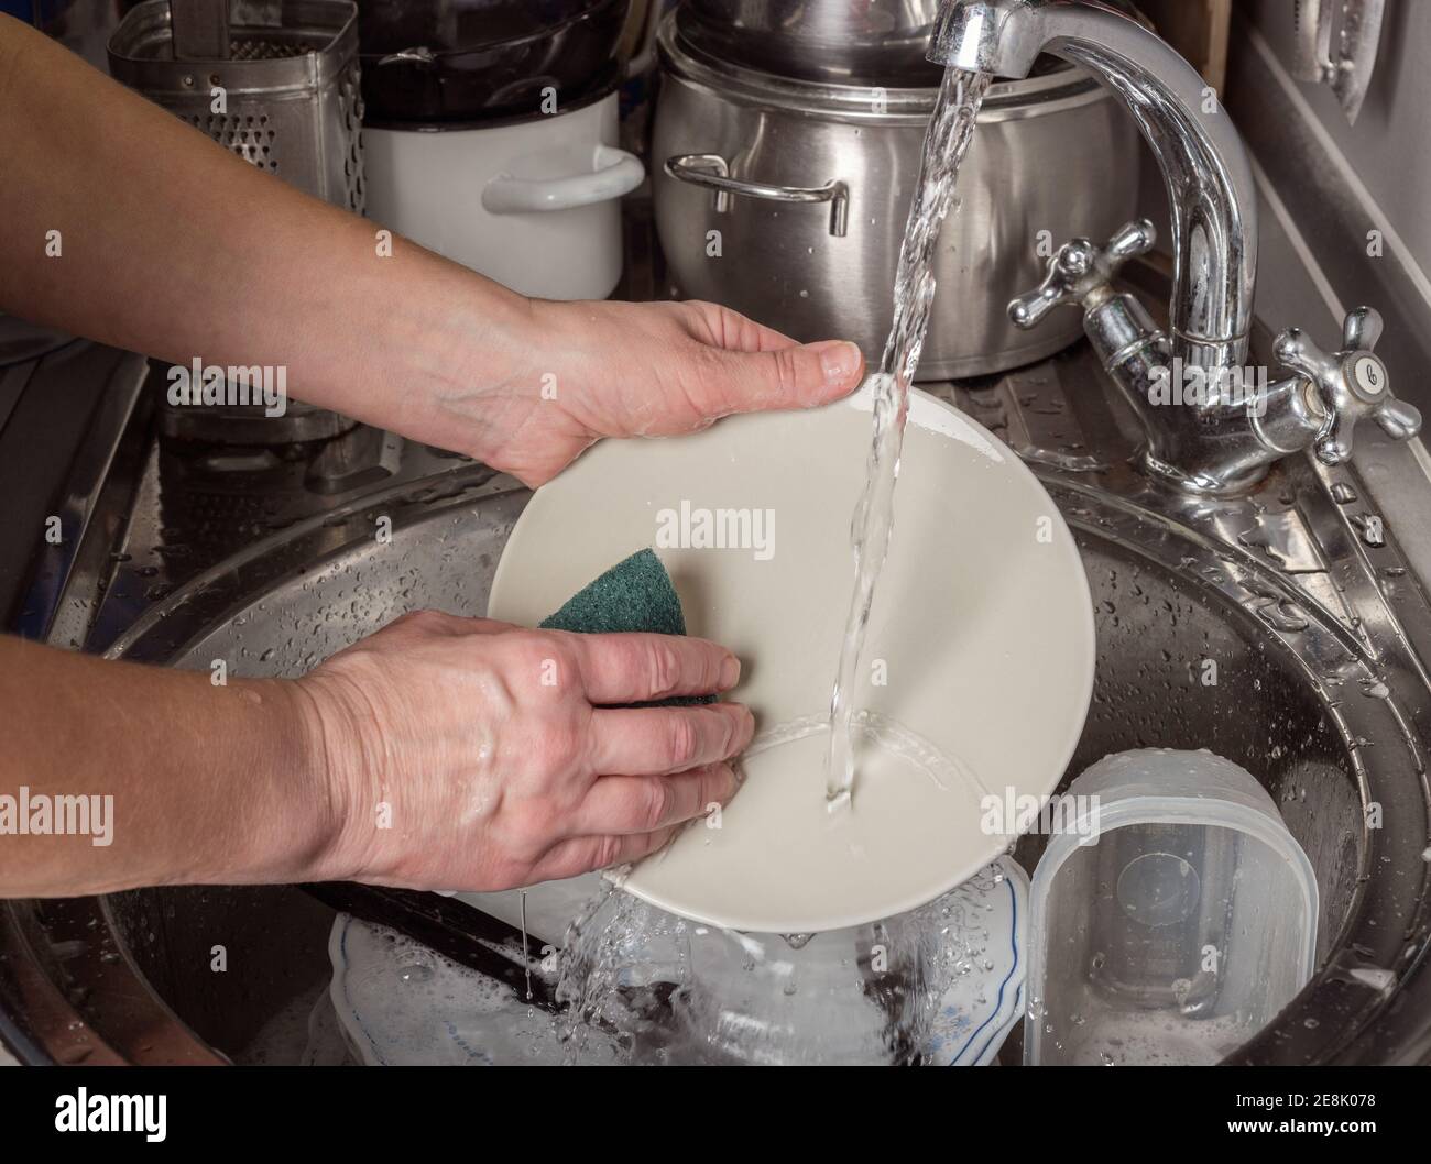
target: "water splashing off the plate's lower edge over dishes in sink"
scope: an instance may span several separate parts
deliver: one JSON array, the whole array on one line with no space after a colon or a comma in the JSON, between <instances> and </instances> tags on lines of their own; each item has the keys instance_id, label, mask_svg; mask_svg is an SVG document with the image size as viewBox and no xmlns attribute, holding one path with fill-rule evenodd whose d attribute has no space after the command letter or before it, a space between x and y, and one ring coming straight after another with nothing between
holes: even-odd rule
<instances>
[{"instance_id":1,"label":"water splashing off the plate's lower edge over dishes in sink","mask_svg":"<svg viewBox=\"0 0 1431 1164\"><path fill-rule=\"evenodd\" d=\"M896 918L798 935L698 925L605 887L564 938L555 1038L568 1062L939 1061L947 991L1006 941L989 928L1002 882L986 867Z\"/></svg>"}]
</instances>

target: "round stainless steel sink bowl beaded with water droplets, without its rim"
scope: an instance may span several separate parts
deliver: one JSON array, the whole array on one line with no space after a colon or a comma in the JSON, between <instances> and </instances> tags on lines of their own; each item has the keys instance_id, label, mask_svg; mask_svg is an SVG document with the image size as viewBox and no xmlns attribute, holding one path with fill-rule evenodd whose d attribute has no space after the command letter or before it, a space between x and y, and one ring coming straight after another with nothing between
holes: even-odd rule
<instances>
[{"instance_id":1,"label":"round stainless steel sink bowl beaded with water droplets, without its rim","mask_svg":"<svg viewBox=\"0 0 1431 1164\"><path fill-rule=\"evenodd\" d=\"M1344 945L1369 859L1361 754L1377 749L1357 739L1387 739L1375 721L1388 701L1344 694L1355 691L1349 636L1314 603L1275 602L1269 621L1268 595L1285 582L1254 555L1215 551L1192 526L1058 469L1040 475L1075 528L1098 626L1093 705L1065 784L1129 748L1209 748L1245 766L1312 861L1325 965ZM199 578L110 653L195 671L223 658L235 674L293 676L409 609L479 615L528 496L478 468L375 495ZM372 536L382 516L392 519L391 543ZM1329 684L1322 656L1337 651L1347 658ZM1387 742L1379 751L1391 759L1395 742ZM1026 837L1016 857L1032 869L1040 849L1040 838ZM199 1038L239 1060L302 1048L308 1005L329 972L323 907L289 888L160 888L112 895L106 908L129 958ZM258 970L185 970L206 964L216 942L243 948ZM1322 987L1348 982L1355 978L1342 974ZM1311 997L1317 990L1289 1011L1325 1008ZM1315 1055L1317 1044L1296 1035L1325 1020L1305 1018L1292 1015L1291 1035L1268 1031L1258 1040L1266 1047L1248 1054Z\"/></svg>"}]
</instances>

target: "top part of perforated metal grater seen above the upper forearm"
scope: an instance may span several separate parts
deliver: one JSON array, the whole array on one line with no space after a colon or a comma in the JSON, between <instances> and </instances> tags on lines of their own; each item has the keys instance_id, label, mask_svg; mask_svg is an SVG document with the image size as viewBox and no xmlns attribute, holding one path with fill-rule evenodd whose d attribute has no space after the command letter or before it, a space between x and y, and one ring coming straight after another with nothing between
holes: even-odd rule
<instances>
[{"instance_id":1,"label":"top part of perforated metal grater seen above the upper forearm","mask_svg":"<svg viewBox=\"0 0 1431 1164\"><path fill-rule=\"evenodd\" d=\"M358 6L233 0L229 17L228 57L177 60L169 0L145 0L110 37L109 70L246 162L361 214Z\"/></svg>"}]
</instances>

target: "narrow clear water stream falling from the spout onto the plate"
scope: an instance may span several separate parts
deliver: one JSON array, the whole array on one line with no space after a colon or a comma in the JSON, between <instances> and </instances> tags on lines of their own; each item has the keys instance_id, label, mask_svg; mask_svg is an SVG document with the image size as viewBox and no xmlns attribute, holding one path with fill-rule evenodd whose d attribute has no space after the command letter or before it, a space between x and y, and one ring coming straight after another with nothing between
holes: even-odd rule
<instances>
[{"instance_id":1,"label":"narrow clear water stream falling from the spout onto the plate","mask_svg":"<svg viewBox=\"0 0 1431 1164\"><path fill-rule=\"evenodd\" d=\"M854 592L840 646L840 666L830 698L827 795L830 809L849 805L854 789L854 692L864 653L864 628L874 603L874 586L889 553L894 523L894 482L899 478L909 386L934 302L934 247L939 229L953 204L959 163L973 140L975 120L989 89L989 76L947 69L924 134L924 153L909 207L904 243L894 276L894 323L877 372L866 380L874 393L874 438L864 493L850 523L854 551Z\"/></svg>"}]
</instances>

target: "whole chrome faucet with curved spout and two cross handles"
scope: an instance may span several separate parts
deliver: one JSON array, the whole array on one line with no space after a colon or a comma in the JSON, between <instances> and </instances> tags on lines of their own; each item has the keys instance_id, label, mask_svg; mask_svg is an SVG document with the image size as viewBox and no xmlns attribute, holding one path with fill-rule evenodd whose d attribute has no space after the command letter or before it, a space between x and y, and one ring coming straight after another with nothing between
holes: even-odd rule
<instances>
[{"instance_id":1,"label":"whole chrome faucet with curved spout and two cross handles","mask_svg":"<svg viewBox=\"0 0 1431 1164\"><path fill-rule=\"evenodd\" d=\"M1148 26L1098 0L946 0L929 59L946 67L1026 77L1040 53L1095 74L1128 106L1168 187L1173 286L1168 333L1132 295L1113 289L1128 259L1148 252L1152 223L1129 223L1098 247L1066 243L1042 286L1009 305L1019 327L1055 306L1083 309L1083 330L1146 429L1143 465L1199 492L1255 485L1268 466L1311 448L1327 463L1351 456L1351 430L1375 419L1395 439L1421 429L1390 390L1371 352L1381 317L1359 307L1342 350L1328 355L1296 329L1272 383L1246 368L1256 286L1256 190L1242 139L1213 90Z\"/></svg>"}]
</instances>

